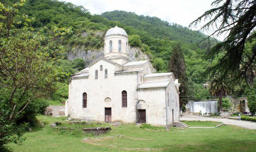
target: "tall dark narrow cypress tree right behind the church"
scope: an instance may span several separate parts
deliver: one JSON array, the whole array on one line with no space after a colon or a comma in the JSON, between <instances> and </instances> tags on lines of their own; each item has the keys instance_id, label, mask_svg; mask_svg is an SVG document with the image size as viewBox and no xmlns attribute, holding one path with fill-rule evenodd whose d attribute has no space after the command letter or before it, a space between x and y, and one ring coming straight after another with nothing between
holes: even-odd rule
<instances>
[{"instance_id":1,"label":"tall dark narrow cypress tree right behind the church","mask_svg":"<svg viewBox=\"0 0 256 152\"><path fill-rule=\"evenodd\" d=\"M179 101L181 109L182 105L186 105L188 103L188 77L184 56L179 43L173 48L173 52L170 56L169 72L172 72L175 78L178 79L178 81L180 82Z\"/></svg>"}]
</instances>

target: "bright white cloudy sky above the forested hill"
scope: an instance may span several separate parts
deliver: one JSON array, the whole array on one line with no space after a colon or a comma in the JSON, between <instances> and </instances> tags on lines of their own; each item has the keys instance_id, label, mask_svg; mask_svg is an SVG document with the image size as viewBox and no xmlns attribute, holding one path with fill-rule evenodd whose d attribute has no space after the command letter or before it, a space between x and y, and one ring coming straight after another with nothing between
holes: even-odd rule
<instances>
[{"instance_id":1,"label":"bright white cloudy sky above the forested hill","mask_svg":"<svg viewBox=\"0 0 256 152\"><path fill-rule=\"evenodd\" d=\"M156 16L170 23L188 27L189 23L211 9L213 0L64 0L82 5L91 14L121 10L135 12L137 15ZM201 24L203 25L203 23ZM193 27L198 30L200 26ZM210 33L204 32L209 35ZM225 35L217 39L223 40Z\"/></svg>"}]
</instances>

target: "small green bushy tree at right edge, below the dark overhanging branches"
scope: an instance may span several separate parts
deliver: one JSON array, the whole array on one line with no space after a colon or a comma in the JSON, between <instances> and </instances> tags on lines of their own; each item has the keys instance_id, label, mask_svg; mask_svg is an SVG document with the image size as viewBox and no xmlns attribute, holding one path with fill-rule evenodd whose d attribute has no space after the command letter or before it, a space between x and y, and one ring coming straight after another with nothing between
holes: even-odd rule
<instances>
[{"instance_id":1,"label":"small green bushy tree at right edge, below the dark overhanging branches","mask_svg":"<svg viewBox=\"0 0 256 152\"><path fill-rule=\"evenodd\" d=\"M250 110L250 112L252 113L252 117L255 116L255 112L256 112L256 89L253 87L248 87L245 90L246 94L247 94L247 106Z\"/></svg>"}]
</instances>

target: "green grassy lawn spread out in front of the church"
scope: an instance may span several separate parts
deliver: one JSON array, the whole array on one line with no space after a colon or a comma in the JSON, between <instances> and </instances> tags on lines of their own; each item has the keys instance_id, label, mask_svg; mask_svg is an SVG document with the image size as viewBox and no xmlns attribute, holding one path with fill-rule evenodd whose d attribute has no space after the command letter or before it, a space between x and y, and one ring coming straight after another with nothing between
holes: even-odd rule
<instances>
[{"instance_id":1,"label":"green grassy lawn spread out in front of the church","mask_svg":"<svg viewBox=\"0 0 256 152\"><path fill-rule=\"evenodd\" d=\"M38 116L45 124L62 122L65 117ZM95 126L96 122L91 122ZM109 126L101 122L102 126ZM185 122L190 126L215 126L218 122L192 121ZM79 124L80 125L80 124ZM69 125L72 126L72 125ZM77 128L82 128L78 126ZM77 130L60 131L49 125L44 128L33 128L25 133L23 145L9 144L14 152L253 152L256 151L256 130L238 126L223 125L219 128L180 129L170 128L170 131L142 129L135 124L122 124L111 127L105 135L93 136ZM81 135L82 134L82 135ZM117 136L120 135L120 136ZM84 138L90 137L83 141ZM99 138L100 137L100 138Z\"/></svg>"}]
</instances>

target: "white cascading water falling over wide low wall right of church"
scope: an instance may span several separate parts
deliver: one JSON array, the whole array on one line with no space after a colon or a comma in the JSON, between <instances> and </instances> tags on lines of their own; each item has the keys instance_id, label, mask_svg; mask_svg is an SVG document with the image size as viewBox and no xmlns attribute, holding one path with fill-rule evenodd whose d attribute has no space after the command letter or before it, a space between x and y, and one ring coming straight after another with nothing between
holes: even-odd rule
<instances>
[{"instance_id":1,"label":"white cascading water falling over wide low wall right of church","mask_svg":"<svg viewBox=\"0 0 256 152\"><path fill-rule=\"evenodd\" d=\"M218 112L218 101L189 101L186 108L189 108L190 112L203 113L215 113Z\"/></svg>"}]
</instances>

